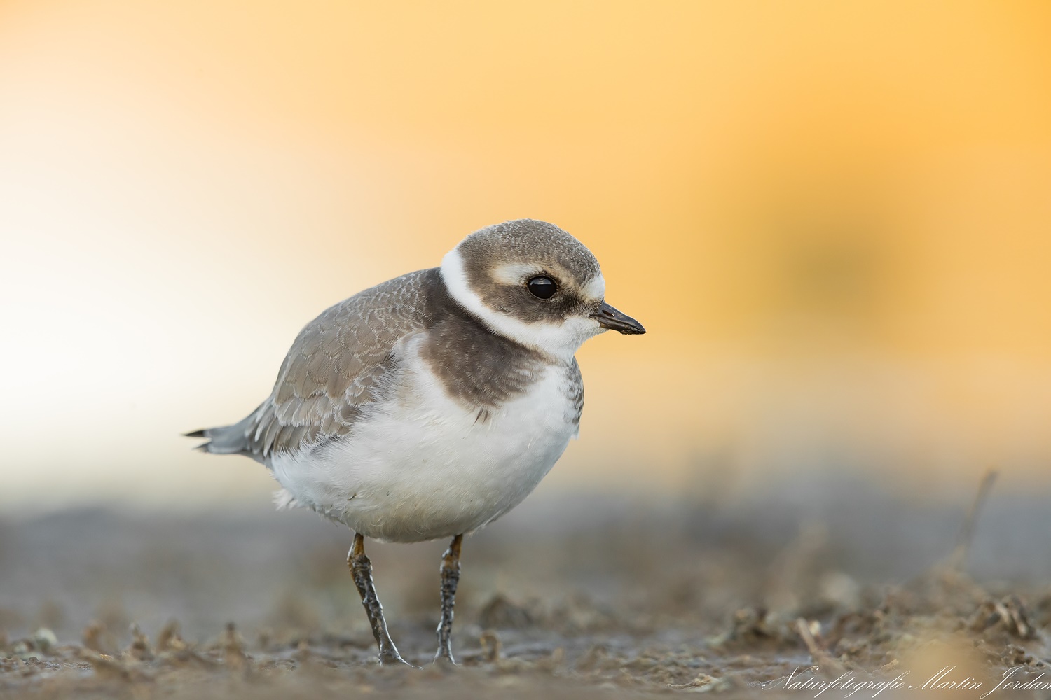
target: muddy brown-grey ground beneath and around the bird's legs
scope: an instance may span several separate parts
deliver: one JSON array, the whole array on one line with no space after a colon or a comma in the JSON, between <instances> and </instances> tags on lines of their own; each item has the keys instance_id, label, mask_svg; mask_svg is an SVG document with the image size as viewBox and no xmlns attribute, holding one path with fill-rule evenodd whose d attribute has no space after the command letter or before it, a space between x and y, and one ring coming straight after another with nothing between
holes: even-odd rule
<instances>
[{"instance_id":1,"label":"muddy brown-grey ground beneath and around the bird's legs","mask_svg":"<svg viewBox=\"0 0 1051 700\"><path fill-rule=\"evenodd\" d=\"M788 684L844 673L899 677L880 697L911 697L948 666L935 683L970 677L983 688L960 697L978 697L1007 669L1045 670L1046 494L994 489L961 571L948 557L966 500L807 480L733 507L528 501L465 543L458 670L373 663L351 536L309 512L0 519L0 697L750 696L763 683L763 697L815 697ZM420 665L445 546L368 547L392 635Z\"/></svg>"}]
</instances>

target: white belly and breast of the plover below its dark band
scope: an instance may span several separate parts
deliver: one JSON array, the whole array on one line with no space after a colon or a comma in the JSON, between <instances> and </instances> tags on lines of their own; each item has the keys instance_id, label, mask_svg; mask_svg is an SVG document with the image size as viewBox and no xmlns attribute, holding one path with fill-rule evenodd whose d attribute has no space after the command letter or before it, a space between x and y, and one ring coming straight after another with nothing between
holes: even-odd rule
<instances>
[{"instance_id":1,"label":"white belly and breast of the plover below its dark band","mask_svg":"<svg viewBox=\"0 0 1051 700\"><path fill-rule=\"evenodd\" d=\"M576 434L561 367L479 418L449 398L414 347L404 357L398 390L350 436L273 459L300 504L376 539L452 537L521 503Z\"/></svg>"}]
</instances>

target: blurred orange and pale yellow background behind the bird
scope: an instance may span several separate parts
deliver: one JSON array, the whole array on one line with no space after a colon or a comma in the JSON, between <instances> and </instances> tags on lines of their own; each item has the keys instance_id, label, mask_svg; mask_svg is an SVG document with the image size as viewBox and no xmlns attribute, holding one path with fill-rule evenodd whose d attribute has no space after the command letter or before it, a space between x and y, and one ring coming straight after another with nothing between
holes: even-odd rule
<instances>
[{"instance_id":1,"label":"blurred orange and pale yellow background behind the bird","mask_svg":"<svg viewBox=\"0 0 1051 700\"><path fill-rule=\"evenodd\" d=\"M0 508L190 451L298 328L551 220L641 338L542 489L1051 483L1051 4L0 2Z\"/></svg>"}]
</instances>

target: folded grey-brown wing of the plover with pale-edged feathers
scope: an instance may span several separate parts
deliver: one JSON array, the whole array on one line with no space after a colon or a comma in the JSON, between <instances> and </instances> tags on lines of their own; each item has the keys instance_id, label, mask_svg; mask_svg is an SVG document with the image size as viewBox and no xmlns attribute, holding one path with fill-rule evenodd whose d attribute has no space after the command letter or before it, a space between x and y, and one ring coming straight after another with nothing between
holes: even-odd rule
<instances>
[{"instance_id":1,"label":"folded grey-brown wing of the plover with pale-edged feathers","mask_svg":"<svg viewBox=\"0 0 1051 700\"><path fill-rule=\"evenodd\" d=\"M437 270L424 270L366 290L308 323L277 373L270 397L248 418L204 436L207 451L240 452L269 464L347 434L363 411L396 383L397 342L427 327L427 288Z\"/></svg>"}]
</instances>

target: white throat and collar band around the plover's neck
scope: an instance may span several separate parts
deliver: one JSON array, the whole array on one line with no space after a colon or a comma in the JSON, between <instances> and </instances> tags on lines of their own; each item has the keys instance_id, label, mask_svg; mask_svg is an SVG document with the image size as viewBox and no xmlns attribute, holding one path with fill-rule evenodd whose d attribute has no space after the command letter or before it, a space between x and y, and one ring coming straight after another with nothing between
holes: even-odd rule
<instances>
[{"instance_id":1,"label":"white throat and collar band around the plover's neck","mask_svg":"<svg viewBox=\"0 0 1051 700\"><path fill-rule=\"evenodd\" d=\"M481 319L497 335L539 351L557 360L568 362L589 338L605 331L593 318L571 316L561 323L528 323L507 314L493 311L482 302L468 284L463 260L456 249L441 258L441 279L453 299Z\"/></svg>"}]
</instances>

